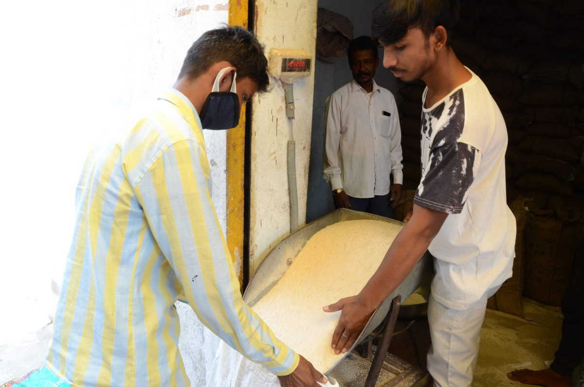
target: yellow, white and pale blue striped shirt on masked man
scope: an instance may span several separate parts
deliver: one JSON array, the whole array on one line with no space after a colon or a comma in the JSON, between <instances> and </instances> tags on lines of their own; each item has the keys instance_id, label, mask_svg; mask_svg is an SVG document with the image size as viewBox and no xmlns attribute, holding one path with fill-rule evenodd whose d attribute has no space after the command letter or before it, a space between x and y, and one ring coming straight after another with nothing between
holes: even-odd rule
<instances>
[{"instance_id":1,"label":"yellow, white and pale blue striped shirt on masked man","mask_svg":"<svg viewBox=\"0 0 584 387\"><path fill-rule=\"evenodd\" d=\"M208 189L199 116L166 92L119 143L90 154L47 366L82 386L188 386L173 305L277 375L298 354L243 302Z\"/></svg>"}]
</instances>

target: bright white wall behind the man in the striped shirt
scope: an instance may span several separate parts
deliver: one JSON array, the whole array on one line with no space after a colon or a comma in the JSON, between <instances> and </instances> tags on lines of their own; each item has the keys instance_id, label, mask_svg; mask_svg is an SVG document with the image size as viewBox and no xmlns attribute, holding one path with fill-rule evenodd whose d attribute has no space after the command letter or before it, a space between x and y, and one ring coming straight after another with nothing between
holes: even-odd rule
<instances>
[{"instance_id":1,"label":"bright white wall behind the man in the striped shirt","mask_svg":"<svg viewBox=\"0 0 584 387\"><path fill-rule=\"evenodd\" d=\"M228 0L5 3L0 344L50 322L51 277L61 281L86 151L128 130L142 106L172 87L193 41L228 20ZM224 229L225 136L205 133ZM197 356L215 339L192 310L179 310L181 348L193 385L200 385L205 361Z\"/></svg>"}]
</instances>

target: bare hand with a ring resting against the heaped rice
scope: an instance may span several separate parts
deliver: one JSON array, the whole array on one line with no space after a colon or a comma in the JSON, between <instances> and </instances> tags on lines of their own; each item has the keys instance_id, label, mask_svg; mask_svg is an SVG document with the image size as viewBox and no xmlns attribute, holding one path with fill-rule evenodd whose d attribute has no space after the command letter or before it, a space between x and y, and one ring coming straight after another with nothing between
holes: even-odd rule
<instances>
[{"instance_id":1,"label":"bare hand with a ring resting against the heaped rice","mask_svg":"<svg viewBox=\"0 0 584 387\"><path fill-rule=\"evenodd\" d=\"M332 347L335 354L345 353L353 345L357 337L369 321L375 308L364 305L359 296L346 297L322 308L325 312L340 310L339 322L332 335Z\"/></svg>"}]
</instances>

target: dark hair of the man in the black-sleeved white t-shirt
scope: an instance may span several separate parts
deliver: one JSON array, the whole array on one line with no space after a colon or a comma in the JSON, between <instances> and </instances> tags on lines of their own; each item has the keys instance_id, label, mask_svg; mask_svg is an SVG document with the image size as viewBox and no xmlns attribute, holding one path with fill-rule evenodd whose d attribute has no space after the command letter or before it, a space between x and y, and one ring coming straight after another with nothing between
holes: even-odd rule
<instances>
[{"instance_id":1,"label":"dark hair of the man in the black-sleeved white t-shirt","mask_svg":"<svg viewBox=\"0 0 584 387\"><path fill-rule=\"evenodd\" d=\"M373 11L371 28L373 36L387 45L399 42L415 27L428 37L443 26L450 37L459 17L459 0L381 0Z\"/></svg>"}]
</instances>

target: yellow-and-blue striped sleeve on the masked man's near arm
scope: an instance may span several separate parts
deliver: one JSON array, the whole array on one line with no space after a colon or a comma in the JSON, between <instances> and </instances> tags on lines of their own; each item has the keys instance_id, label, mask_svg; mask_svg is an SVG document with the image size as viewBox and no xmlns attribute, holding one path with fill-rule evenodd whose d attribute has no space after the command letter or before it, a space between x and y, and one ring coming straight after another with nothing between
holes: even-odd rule
<instances>
[{"instance_id":1,"label":"yellow-and-blue striped sleeve on the masked man's near arm","mask_svg":"<svg viewBox=\"0 0 584 387\"><path fill-rule=\"evenodd\" d=\"M201 322L246 358L276 375L291 374L299 364L298 354L241 298L208 191L208 173L202 145L179 141L158 157L134 191Z\"/></svg>"}]
</instances>

